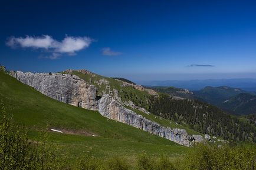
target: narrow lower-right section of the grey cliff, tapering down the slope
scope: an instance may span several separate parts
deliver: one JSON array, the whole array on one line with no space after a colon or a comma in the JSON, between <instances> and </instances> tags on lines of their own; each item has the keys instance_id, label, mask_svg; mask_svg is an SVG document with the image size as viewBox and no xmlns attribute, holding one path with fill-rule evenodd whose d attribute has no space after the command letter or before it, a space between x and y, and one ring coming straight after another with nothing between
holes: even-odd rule
<instances>
[{"instance_id":1,"label":"narrow lower-right section of the grey cliff, tapering down the slope","mask_svg":"<svg viewBox=\"0 0 256 170\"><path fill-rule=\"evenodd\" d=\"M169 139L170 141L176 142L180 145L191 146L193 142L201 142L198 138L193 138L189 135L185 129L169 128L164 127L156 122L152 122L149 119L144 118L141 115L137 115L135 112L125 108L120 102L116 101L110 95L103 95L99 102L99 112L101 115L114 119L124 124L134 126L142 129L143 131L155 134L163 138ZM200 139L200 141L198 141Z\"/></svg>"}]
</instances>

